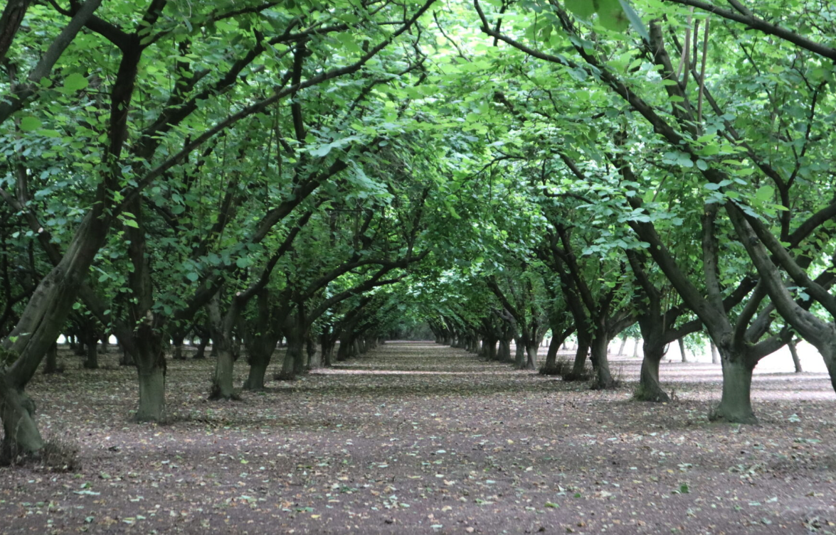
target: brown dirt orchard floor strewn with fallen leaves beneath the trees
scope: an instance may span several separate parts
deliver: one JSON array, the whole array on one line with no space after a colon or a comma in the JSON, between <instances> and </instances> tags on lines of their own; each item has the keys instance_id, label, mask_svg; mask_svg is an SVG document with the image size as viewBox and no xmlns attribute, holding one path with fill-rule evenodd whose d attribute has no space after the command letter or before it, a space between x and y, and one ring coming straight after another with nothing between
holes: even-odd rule
<instances>
[{"instance_id":1,"label":"brown dirt orchard floor strewn with fallen leaves beneath the trees","mask_svg":"<svg viewBox=\"0 0 836 535\"><path fill-rule=\"evenodd\" d=\"M0 533L836 533L834 394L758 374L759 426L707 421L720 369L663 363L676 401L387 343L242 401L212 361L171 361L166 425L130 423L135 371L38 376L47 437L76 473L0 468ZM238 384L245 365L237 364Z\"/></svg>"}]
</instances>

